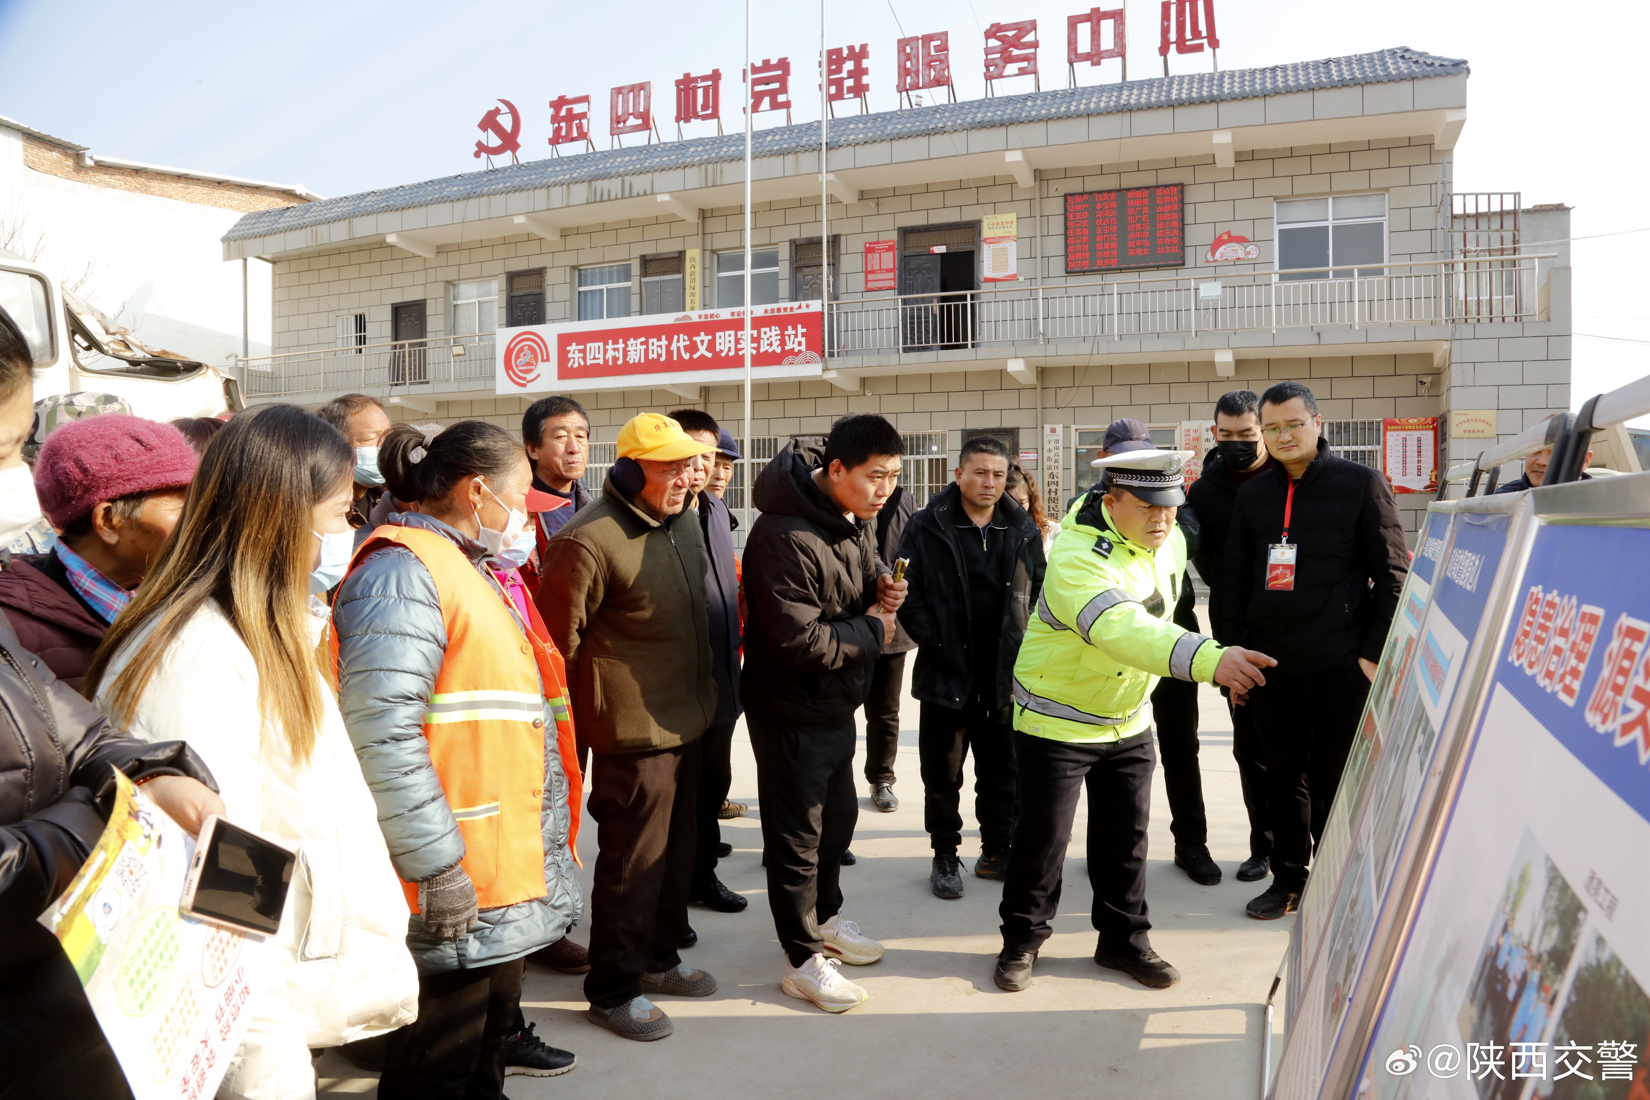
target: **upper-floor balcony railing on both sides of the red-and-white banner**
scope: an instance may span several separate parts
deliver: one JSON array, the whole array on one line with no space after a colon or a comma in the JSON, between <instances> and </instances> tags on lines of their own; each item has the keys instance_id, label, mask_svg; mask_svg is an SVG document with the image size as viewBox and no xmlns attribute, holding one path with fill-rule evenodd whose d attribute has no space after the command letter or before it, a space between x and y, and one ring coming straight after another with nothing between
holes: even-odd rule
<instances>
[{"instance_id":1,"label":"upper-floor balcony railing on both sides of the red-and-white banner","mask_svg":"<svg viewBox=\"0 0 1650 1100\"><path fill-rule=\"evenodd\" d=\"M1533 320L1536 262L1497 256L1287 272L1214 270L1115 282L1015 284L965 294L908 294L832 302L828 355L886 355L1120 341L1280 328L1366 328ZM1104 346L1094 351L1104 353ZM434 336L315 348L244 360L251 399L350 389L399 389L492 379L493 338Z\"/></svg>"}]
</instances>

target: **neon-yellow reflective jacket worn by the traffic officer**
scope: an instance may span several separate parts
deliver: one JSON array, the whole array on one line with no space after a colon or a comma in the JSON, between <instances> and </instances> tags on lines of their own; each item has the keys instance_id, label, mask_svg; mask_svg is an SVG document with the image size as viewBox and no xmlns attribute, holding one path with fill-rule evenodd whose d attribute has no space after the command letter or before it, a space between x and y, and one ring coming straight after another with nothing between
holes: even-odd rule
<instances>
[{"instance_id":1,"label":"neon-yellow reflective jacket worn by the traffic officer","mask_svg":"<svg viewBox=\"0 0 1650 1100\"><path fill-rule=\"evenodd\" d=\"M1147 729L1162 676L1211 683L1224 648L1172 622L1186 572L1180 528L1152 551L1117 533L1097 493L1059 524L1015 661L1015 729L1107 742Z\"/></svg>"}]
</instances>

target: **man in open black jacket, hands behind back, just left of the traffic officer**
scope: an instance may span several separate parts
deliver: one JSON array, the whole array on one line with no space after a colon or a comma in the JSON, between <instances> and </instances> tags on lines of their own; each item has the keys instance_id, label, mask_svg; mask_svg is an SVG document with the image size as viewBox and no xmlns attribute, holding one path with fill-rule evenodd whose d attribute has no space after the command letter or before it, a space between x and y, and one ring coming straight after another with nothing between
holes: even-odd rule
<instances>
[{"instance_id":1,"label":"man in open black jacket, hands behind back, just left of the traffic officer","mask_svg":"<svg viewBox=\"0 0 1650 1100\"><path fill-rule=\"evenodd\" d=\"M906 528L911 585L899 622L917 643L911 694L922 704L922 825L934 846L929 886L962 897L959 813L964 760L974 749L974 872L1002 879L1015 830L1013 670L1031 600L1043 587L1043 534L1011 496L1008 450L997 439L962 445L955 482Z\"/></svg>"}]
</instances>

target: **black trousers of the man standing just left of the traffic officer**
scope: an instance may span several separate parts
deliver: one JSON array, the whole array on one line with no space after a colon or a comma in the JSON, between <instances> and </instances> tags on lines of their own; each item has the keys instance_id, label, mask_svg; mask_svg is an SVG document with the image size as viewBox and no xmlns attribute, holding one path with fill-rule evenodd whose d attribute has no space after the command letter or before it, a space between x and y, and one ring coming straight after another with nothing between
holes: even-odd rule
<instances>
[{"instance_id":1,"label":"black trousers of the man standing just left of the traffic officer","mask_svg":"<svg viewBox=\"0 0 1650 1100\"><path fill-rule=\"evenodd\" d=\"M947 856L962 843L962 778L974 749L974 816L980 846L1005 851L1015 838L1013 707L993 707L978 694L962 709L922 704L917 754L922 760L922 828L934 851Z\"/></svg>"}]
</instances>

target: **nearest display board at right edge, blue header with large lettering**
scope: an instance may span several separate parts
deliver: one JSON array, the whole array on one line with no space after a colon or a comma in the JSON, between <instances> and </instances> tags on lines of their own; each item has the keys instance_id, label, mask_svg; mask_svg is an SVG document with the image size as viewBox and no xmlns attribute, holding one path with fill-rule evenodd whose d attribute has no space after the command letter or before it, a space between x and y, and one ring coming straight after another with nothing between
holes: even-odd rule
<instances>
[{"instance_id":1,"label":"nearest display board at right edge, blue header with large lettering","mask_svg":"<svg viewBox=\"0 0 1650 1100\"><path fill-rule=\"evenodd\" d=\"M1647 556L1538 531L1356 1095L1650 1093Z\"/></svg>"}]
</instances>

